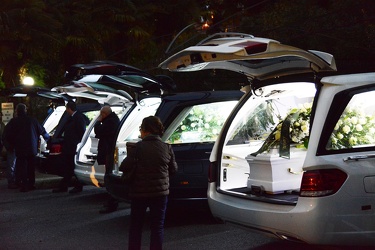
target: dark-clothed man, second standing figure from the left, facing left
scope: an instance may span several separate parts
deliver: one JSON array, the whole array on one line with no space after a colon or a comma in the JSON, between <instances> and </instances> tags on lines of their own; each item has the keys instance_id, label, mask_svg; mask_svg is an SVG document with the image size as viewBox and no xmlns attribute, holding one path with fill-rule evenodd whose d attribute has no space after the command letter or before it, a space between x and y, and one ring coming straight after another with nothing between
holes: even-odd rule
<instances>
[{"instance_id":1,"label":"dark-clothed man, second standing figure from the left, facing left","mask_svg":"<svg viewBox=\"0 0 375 250\"><path fill-rule=\"evenodd\" d=\"M77 144L82 140L82 136L86 130L85 115L77 111L76 103L69 101L66 104L66 112L69 119L63 128L63 144L62 144L62 161L65 169L63 170L63 178L58 188L52 190L53 193L67 192L72 177L74 176L74 157L76 155ZM82 191L82 184L77 180L74 187L69 193L79 193Z\"/></svg>"}]
</instances>

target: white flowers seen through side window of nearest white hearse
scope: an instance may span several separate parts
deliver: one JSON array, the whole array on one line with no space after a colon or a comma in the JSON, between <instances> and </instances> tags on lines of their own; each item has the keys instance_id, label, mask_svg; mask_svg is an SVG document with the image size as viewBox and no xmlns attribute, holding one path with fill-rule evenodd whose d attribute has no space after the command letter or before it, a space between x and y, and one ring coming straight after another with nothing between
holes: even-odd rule
<instances>
[{"instance_id":1,"label":"white flowers seen through side window of nearest white hearse","mask_svg":"<svg viewBox=\"0 0 375 250\"><path fill-rule=\"evenodd\" d=\"M331 149L375 144L375 117L360 108L346 108L331 135Z\"/></svg>"}]
</instances>

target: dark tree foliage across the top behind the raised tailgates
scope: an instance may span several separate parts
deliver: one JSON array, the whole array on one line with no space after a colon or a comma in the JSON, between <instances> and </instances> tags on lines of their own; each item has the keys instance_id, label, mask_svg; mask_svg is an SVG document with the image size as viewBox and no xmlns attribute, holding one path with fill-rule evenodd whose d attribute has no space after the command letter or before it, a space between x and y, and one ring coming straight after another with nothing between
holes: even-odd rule
<instances>
[{"instance_id":1,"label":"dark tree foliage across the top behind the raised tailgates","mask_svg":"<svg viewBox=\"0 0 375 250\"><path fill-rule=\"evenodd\" d=\"M331 53L339 73L374 71L374 13L372 0L2 0L0 83L18 85L23 69L53 87L69 65L93 60L170 74L157 65L218 31ZM179 91L246 81L220 71L173 77Z\"/></svg>"}]
</instances>

